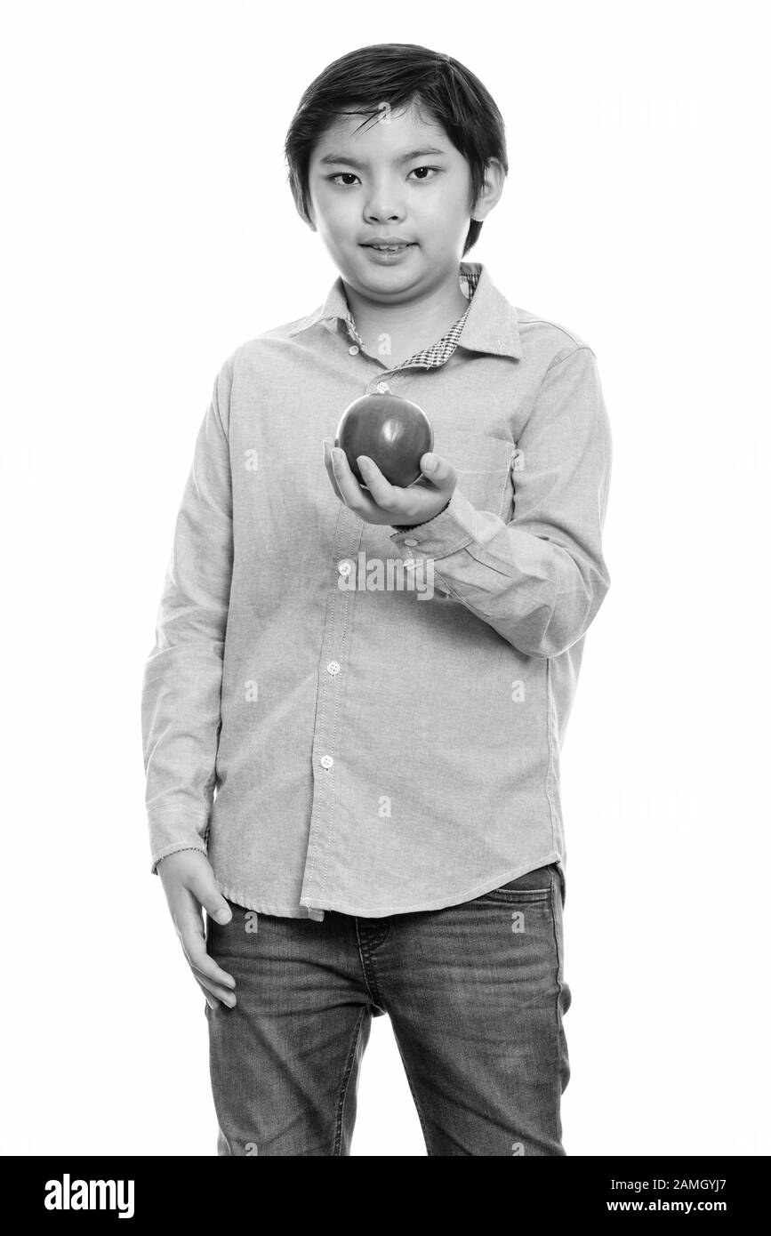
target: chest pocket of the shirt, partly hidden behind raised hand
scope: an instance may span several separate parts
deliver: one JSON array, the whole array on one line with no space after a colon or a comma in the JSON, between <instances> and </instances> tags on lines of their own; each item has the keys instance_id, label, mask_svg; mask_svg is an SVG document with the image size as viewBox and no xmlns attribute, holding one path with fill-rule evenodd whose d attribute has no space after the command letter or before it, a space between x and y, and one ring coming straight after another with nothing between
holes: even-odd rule
<instances>
[{"instance_id":1,"label":"chest pocket of the shirt, partly hidden behind raised hand","mask_svg":"<svg viewBox=\"0 0 771 1236\"><path fill-rule=\"evenodd\" d=\"M457 487L477 510L492 510L504 523L514 513L512 470L516 445L465 429L436 435L434 450L457 472Z\"/></svg>"}]
</instances>

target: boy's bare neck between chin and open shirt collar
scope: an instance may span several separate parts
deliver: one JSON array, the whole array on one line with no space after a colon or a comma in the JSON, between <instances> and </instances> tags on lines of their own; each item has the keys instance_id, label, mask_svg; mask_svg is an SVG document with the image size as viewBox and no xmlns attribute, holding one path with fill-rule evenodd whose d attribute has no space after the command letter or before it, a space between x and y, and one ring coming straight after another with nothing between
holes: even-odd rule
<instances>
[{"instance_id":1,"label":"boy's bare neck between chin and open shirt collar","mask_svg":"<svg viewBox=\"0 0 771 1236\"><path fill-rule=\"evenodd\" d=\"M393 365L399 365L415 352L435 344L468 308L457 272L419 300L404 300L398 304L372 300L345 279L343 289L366 351ZM389 336L388 353L381 350L382 335Z\"/></svg>"}]
</instances>

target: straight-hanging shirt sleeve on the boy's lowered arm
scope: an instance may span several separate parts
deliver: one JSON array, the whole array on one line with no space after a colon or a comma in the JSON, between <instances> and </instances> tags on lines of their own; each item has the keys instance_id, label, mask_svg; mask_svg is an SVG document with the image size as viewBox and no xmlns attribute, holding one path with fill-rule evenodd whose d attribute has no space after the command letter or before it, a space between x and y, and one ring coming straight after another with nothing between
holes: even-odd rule
<instances>
[{"instance_id":1,"label":"straight-hanging shirt sleeve on the boy's lowered arm","mask_svg":"<svg viewBox=\"0 0 771 1236\"><path fill-rule=\"evenodd\" d=\"M224 366L199 428L142 680L151 871L180 849L206 853L220 734L232 575L232 487Z\"/></svg>"}]
</instances>

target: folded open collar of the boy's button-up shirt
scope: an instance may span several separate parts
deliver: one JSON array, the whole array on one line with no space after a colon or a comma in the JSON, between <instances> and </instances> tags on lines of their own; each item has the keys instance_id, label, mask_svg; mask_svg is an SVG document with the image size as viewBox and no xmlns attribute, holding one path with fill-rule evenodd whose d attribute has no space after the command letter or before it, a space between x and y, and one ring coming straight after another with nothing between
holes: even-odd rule
<instances>
[{"instance_id":1,"label":"folded open collar of the boy's button-up shirt","mask_svg":"<svg viewBox=\"0 0 771 1236\"><path fill-rule=\"evenodd\" d=\"M473 352L492 352L493 356L521 357L516 310L498 290L482 262L461 262L460 269L472 267L478 272L478 283L466 316L460 344ZM350 320L348 303L345 295L342 277L337 276L326 300L297 326L289 336L299 335L321 323L327 330L337 330L340 321Z\"/></svg>"}]
</instances>

